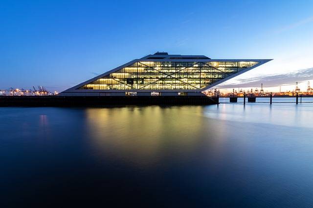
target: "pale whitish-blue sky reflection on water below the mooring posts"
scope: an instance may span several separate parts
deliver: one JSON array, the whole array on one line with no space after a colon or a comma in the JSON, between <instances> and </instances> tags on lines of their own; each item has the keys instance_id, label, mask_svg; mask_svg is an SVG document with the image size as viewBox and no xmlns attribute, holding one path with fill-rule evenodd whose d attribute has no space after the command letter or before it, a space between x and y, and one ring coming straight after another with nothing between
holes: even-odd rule
<instances>
[{"instance_id":1,"label":"pale whitish-blue sky reflection on water below the mooring posts","mask_svg":"<svg viewBox=\"0 0 313 208\"><path fill-rule=\"evenodd\" d=\"M219 111L211 111L209 106L204 110L208 118L222 119L244 123L263 123L289 127L313 128L313 105L311 103L250 103L221 104Z\"/></svg>"}]
</instances>

